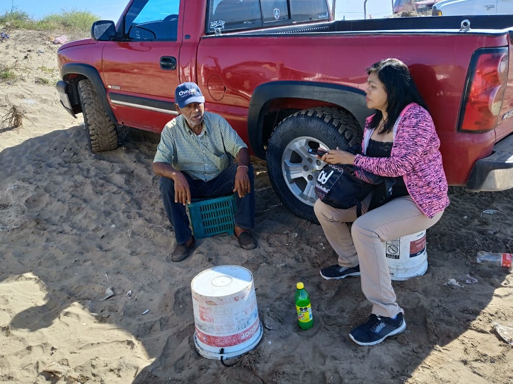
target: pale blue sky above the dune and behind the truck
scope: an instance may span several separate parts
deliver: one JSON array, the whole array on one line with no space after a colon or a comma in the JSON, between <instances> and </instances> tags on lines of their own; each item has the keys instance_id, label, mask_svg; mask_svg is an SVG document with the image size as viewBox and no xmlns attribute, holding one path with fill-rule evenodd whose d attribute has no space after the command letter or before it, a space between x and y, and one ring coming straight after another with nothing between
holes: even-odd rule
<instances>
[{"instance_id":1,"label":"pale blue sky above the dune and behind the truck","mask_svg":"<svg viewBox=\"0 0 513 384\"><path fill-rule=\"evenodd\" d=\"M332 0L328 0L331 5ZM336 0L336 19L364 18L364 0ZM13 7L27 12L33 18L42 18L64 10L89 11L104 20L114 20L128 4L128 0L0 0L0 14L10 11ZM379 18L392 13L391 0L367 0L367 17Z\"/></svg>"}]
</instances>

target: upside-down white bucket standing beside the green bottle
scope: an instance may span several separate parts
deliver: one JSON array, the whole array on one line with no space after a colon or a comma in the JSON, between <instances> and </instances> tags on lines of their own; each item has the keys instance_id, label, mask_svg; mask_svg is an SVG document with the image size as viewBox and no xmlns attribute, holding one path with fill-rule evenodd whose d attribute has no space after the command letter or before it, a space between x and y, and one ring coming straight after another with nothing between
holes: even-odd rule
<instances>
[{"instance_id":1,"label":"upside-down white bucket standing beside the green bottle","mask_svg":"<svg viewBox=\"0 0 513 384\"><path fill-rule=\"evenodd\" d=\"M191 282L194 344L203 357L228 359L253 349L262 338L253 275L236 265L204 270Z\"/></svg>"}]
</instances>

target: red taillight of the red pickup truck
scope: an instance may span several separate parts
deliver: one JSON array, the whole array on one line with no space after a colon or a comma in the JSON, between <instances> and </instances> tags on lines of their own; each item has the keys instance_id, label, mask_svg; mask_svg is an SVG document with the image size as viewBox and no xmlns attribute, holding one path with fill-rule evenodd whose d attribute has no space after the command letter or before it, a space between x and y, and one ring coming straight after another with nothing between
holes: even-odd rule
<instances>
[{"instance_id":1,"label":"red taillight of the red pickup truck","mask_svg":"<svg viewBox=\"0 0 513 384\"><path fill-rule=\"evenodd\" d=\"M483 132L495 129L507 77L507 48L485 48L473 54L463 93L459 131Z\"/></svg>"}]
</instances>

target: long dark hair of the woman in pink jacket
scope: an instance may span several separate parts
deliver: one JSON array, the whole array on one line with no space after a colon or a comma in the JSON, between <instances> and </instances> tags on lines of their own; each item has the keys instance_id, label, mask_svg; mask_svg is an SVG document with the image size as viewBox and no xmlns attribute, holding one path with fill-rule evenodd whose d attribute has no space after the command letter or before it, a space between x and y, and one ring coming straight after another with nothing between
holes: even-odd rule
<instances>
[{"instance_id":1,"label":"long dark hair of the woman in pink jacket","mask_svg":"<svg viewBox=\"0 0 513 384\"><path fill-rule=\"evenodd\" d=\"M378 74L378 78L384 84L387 94L386 111L388 116L379 133L392 131L393 124L396 123L402 110L409 103L417 103L427 110L426 104L411 78L408 67L401 60L394 58L380 60L367 68L367 74L370 75L371 73ZM377 110L370 126L376 128L382 118L383 114L380 110Z\"/></svg>"}]
</instances>

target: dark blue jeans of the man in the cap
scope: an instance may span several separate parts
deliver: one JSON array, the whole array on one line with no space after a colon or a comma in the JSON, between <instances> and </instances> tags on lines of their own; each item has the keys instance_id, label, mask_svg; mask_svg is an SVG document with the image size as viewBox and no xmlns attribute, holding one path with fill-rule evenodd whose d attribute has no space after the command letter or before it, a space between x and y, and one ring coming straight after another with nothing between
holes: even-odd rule
<instances>
[{"instance_id":1,"label":"dark blue jeans of the man in the cap","mask_svg":"<svg viewBox=\"0 0 513 384\"><path fill-rule=\"evenodd\" d=\"M192 179L187 173L182 172L189 183L191 191L191 198L214 198L233 193L235 187L235 174L237 172L237 164L232 164L218 177L210 180L195 180ZM251 184L251 192L246 194L243 198L235 195L237 211L233 217L236 226L244 229L254 228L255 216L255 195L254 195L254 174L253 167L249 164L248 169L249 182ZM182 203L174 202L174 181L167 177L161 177L160 190L162 194L162 201L164 202L164 209L166 210L167 218L174 228L174 236L176 237L176 244L185 244L191 237L192 230L189 226L189 218L185 210L185 205Z\"/></svg>"}]
</instances>

